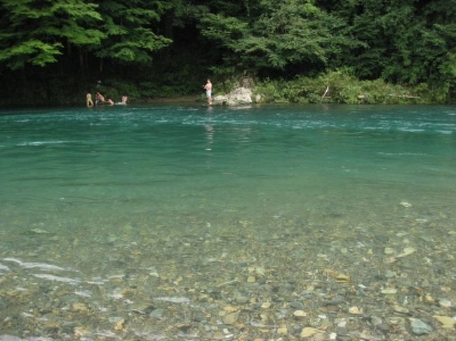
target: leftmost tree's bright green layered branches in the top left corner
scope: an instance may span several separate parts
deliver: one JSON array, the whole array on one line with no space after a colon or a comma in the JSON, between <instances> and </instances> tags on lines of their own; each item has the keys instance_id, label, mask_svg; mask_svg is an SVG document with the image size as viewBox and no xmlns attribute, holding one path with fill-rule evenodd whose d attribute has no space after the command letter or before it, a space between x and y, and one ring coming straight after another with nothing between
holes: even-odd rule
<instances>
[{"instance_id":1,"label":"leftmost tree's bright green layered branches in the top left corner","mask_svg":"<svg viewBox=\"0 0 456 341\"><path fill-rule=\"evenodd\" d=\"M10 69L44 67L58 61L65 43L87 46L105 34L97 5L83 0L3 0L0 7L0 61Z\"/></svg>"}]
</instances>

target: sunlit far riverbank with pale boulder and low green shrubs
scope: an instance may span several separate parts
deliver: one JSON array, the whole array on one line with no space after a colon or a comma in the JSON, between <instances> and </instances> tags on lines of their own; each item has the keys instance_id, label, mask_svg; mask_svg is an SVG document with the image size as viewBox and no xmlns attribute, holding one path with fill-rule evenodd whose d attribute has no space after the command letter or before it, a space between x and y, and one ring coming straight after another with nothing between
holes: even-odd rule
<instances>
[{"instance_id":1,"label":"sunlit far riverbank with pale boulder and low green shrubs","mask_svg":"<svg viewBox=\"0 0 456 341\"><path fill-rule=\"evenodd\" d=\"M360 81L341 71L293 79L229 78L215 83L215 105L248 103L300 104L449 104L455 102L448 88ZM203 95L145 99L146 103L203 102Z\"/></svg>"}]
</instances>

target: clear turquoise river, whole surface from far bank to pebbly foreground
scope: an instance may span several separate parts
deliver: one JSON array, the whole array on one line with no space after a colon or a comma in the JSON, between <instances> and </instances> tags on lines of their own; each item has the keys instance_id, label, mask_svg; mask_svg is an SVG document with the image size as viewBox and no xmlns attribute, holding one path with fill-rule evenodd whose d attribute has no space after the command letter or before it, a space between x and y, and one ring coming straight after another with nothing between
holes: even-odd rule
<instances>
[{"instance_id":1,"label":"clear turquoise river, whole surface from far bank to pebbly foreground","mask_svg":"<svg viewBox=\"0 0 456 341\"><path fill-rule=\"evenodd\" d=\"M455 340L456 108L0 111L0 340Z\"/></svg>"}]
</instances>

